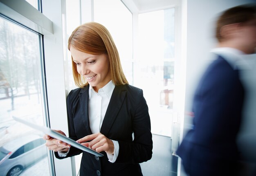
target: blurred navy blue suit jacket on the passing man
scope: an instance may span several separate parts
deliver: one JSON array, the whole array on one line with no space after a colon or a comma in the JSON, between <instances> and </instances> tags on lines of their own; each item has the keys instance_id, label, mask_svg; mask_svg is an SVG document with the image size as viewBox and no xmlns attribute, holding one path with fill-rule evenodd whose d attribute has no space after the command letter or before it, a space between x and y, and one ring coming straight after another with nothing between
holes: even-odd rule
<instances>
[{"instance_id":1,"label":"blurred navy blue suit jacket on the passing man","mask_svg":"<svg viewBox=\"0 0 256 176\"><path fill-rule=\"evenodd\" d=\"M243 99L238 70L219 56L199 82L193 99L194 127L177 150L190 176L233 176Z\"/></svg>"}]
</instances>

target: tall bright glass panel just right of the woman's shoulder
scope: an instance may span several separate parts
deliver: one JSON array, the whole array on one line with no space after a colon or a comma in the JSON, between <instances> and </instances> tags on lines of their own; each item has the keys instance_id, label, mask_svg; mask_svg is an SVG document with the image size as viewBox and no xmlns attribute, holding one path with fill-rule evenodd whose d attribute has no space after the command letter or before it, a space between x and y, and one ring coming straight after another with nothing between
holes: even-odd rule
<instances>
[{"instance_id":1,"label":"tall bright glass panel just right of the woman's shoulder","mask_svg":"<svg viewBox=\"0 0 256 176\"><path fill-rule=\"evenodd\" d=\"M144 91L152 133L164 136L171 136L173 117L174 12L172 8L138 15L134 85Z\"/></svg>"}]
</instances>

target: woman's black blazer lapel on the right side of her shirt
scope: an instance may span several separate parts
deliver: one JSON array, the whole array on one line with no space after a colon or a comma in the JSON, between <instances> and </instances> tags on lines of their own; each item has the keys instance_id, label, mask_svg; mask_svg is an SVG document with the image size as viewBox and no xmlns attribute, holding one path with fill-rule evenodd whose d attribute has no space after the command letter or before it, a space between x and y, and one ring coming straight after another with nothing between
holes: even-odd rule
<instances>
[{"instance_id":1,"label":"woman's black blazer lapel on the right side of her shirt","mask_svg":"<svg viewBox=\"0 0 256 176\"><path fill-rule=\"evenodd\" d=\"M124 85L115 86L110 102L108 104L105 117L101 125L101 131L100 131L101 134L104 134L105 136L108 135L108 132L117 117L117 114L124 102L125 97L126 97L126 86Z\"/></svg>"}]
</instances>

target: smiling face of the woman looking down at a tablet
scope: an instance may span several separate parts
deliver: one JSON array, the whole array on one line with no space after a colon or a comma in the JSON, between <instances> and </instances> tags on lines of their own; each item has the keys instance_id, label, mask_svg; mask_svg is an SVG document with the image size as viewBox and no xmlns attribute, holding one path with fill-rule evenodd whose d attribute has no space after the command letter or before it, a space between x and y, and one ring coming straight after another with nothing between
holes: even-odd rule
<instances>
[{"instance_id":1,"label":"smiling face of the woman looking down at a tablet","mask_svg":"<svg viewBox=\"0 0 256 176\"><path fill-rule=\"evenodd\" d=\"M77 72L84 76L96 92L111 80L108 55L92 55L70 47Z\"/></svg>"}]
</instances>

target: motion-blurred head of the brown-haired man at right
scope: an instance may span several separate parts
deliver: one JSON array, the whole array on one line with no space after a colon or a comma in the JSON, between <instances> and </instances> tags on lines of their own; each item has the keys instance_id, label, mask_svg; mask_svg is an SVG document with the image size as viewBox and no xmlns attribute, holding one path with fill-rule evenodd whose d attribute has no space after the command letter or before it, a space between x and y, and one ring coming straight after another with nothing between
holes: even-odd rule
<instances>
[{"instance_id":1,"label":"motion-blurred head of the brown-haired man at right","mask_svg":"<svg viewBox=\"0 0 256 176\"><path fill-rule=\"evenodd\" d=\"M234 47L247 54L254 53L256 8L237 6L227 9L218 18L216 38L222 47Z\"/></svg>"}]
</instances>

